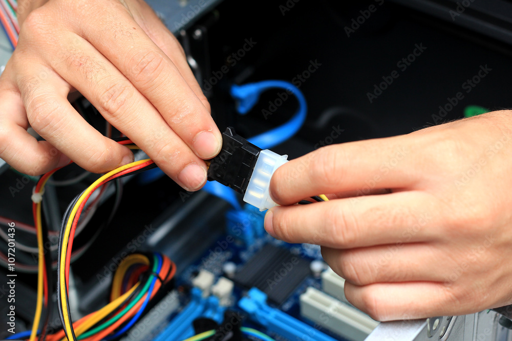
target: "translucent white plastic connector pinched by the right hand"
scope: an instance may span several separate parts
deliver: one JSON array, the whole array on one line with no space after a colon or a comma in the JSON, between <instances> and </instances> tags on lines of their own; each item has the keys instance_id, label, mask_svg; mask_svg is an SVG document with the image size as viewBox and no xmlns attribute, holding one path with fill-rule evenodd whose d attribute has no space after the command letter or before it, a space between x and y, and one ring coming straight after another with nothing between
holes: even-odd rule
<instances>
[{"instance_id":1,"label":"translucent white plastic connector pinched by the right hand","mask_svg":"<svg viewBox=\"0 0 512 341\"><path fill-rule=\"evenodd\" d=\"M275 170L288 162L288 155L279 155L271 150L265 149L258 155L258 160L254 165L247 190L245 191L244 201L260 211L278 206L271 198L268 192L270 178Z\"/></svg>"}]
</instances>

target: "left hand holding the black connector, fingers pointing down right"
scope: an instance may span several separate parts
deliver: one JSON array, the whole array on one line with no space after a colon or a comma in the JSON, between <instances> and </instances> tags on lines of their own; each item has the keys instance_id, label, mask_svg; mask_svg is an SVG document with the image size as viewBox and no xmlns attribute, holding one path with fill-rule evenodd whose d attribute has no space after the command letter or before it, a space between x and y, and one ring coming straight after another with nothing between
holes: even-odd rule
<instances>
[{"instance_id":1,"label":"left hand holding the black connector, fingers pointing down right","mask_svg":"<svg viewBox=\"0 0 512 341\"><path fill-rule=\"evenodd\" d=\"M132 162L71 106L78 90L182 187L205 183L202 159L220 151L221 133L183 49L145 2L25 0L19 12L18 45L0 77L3 160L30 175L70 158L97 173Z\"/></svg>"}]
</instances>

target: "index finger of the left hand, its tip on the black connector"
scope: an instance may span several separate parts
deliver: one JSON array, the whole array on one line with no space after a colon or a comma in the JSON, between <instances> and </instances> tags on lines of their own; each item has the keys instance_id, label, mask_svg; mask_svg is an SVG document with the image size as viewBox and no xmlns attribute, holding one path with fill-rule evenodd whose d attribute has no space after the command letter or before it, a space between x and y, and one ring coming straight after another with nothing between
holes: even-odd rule
<instances>
[{"instance_id":1,"label":"index finger of the left hand, its tip on the black connector","mask_svg":"<svg viewBox=\"0 0 512 341\"><path fill-rule=\"evenodd\" d=\"M76 32L130 80L199 157L217 155L221 148L221 133L208 108L178 67L147 36L121 3L102 1L96 5L101 12L105 11L105 6L111 6L111 11L116 11L117 16L99 16L93 25L87 18L87 22L76 23Z\"/></svg>"}]
</instances>

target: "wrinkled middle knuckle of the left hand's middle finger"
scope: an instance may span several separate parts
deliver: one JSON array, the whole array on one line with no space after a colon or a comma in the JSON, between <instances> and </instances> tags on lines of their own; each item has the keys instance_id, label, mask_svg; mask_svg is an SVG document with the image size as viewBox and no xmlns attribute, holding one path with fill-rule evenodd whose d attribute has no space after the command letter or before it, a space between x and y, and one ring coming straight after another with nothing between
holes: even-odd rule
<instances>
[{"instance_id":1,"label":"wrinkled middle knuckle of the left hand's middle finger","mask_svg":"<svg viewBox=\"0 0 512 341\"><path fill-rule=\"evenodd\" d=\"M99 110L112 119L120 116L120 111L127 111L129 100L133 98L133 86L126 82L112 82L99 96Z\"/></svg>"}]
</instances>

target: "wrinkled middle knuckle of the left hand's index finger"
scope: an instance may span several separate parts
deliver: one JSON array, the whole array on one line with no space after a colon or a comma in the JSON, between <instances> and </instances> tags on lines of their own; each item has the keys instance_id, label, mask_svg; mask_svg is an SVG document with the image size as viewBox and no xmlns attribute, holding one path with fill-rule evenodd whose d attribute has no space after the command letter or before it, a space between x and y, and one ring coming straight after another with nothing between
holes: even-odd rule
<instances>
[{"instance_id":1,"label":"wrinkled middle knuckle of the left hand's index finger","mask_svg":"<svg viewBox=\"0 0 512 341\"><path fill-rule=\"evenodd\" d=\"M162 74L165 56L158 51L141 51L136 53L129 62L131 77L137 87L151 90L153 81Z\"/></svg>"}]
</instances>

